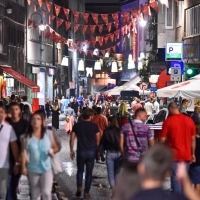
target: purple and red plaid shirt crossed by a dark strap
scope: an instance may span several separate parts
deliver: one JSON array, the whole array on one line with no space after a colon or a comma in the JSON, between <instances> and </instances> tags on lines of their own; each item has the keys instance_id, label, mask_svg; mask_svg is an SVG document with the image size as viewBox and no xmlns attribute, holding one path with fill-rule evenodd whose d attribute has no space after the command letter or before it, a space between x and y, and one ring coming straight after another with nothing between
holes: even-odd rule
<instances>
[{"instance_id":1,"label":"purple and red plaid shirt crossed by a dark strap","mask_svg":"<svg viewBox=\"0 0 200 200\"><path fill-rule=\"evenodd\" d=\"M135 141L130 123L127 123L122 127L120 134L124 136L126 161L138 162L141 153L144 153L148 148L148 141L153 139L153 133L150 128L140 120L134 120L132 121L132 124L140 147L138 147Z\"/></svg>"}]
</instances>

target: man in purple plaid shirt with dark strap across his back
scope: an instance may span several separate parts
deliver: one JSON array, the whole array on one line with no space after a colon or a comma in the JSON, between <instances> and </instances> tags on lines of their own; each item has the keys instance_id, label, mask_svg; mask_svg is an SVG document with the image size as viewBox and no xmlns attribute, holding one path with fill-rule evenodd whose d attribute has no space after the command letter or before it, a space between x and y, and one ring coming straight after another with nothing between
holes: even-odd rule
<instances>
[{"instance_id":1,"label":"man in purple plaid shirt with dark strap across his back","mask_svg":"<svg viewBox=\"0 0 200 200\"><path fill-rule=\"evenodd\" d=\"M148 146L154 146L154 137L150 128L144 124L147 119L146 110L139 108L135 112L135 120L125 124L120 132L120 149L125 165L136 169L140 157Z\"/></svg>"}]
</instances>

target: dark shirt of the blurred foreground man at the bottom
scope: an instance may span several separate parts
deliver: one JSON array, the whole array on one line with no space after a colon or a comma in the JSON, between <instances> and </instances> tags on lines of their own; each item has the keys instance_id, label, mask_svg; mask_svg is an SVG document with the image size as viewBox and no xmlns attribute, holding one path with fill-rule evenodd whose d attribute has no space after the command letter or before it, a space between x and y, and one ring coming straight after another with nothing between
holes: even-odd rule
<instances>
[{"instance_id":1,"label":"dark shirt of the blurred foreground man at the bottom","mask_svg":"<svg viewBox=\"0 0 200 200\"><path fill-rule=\"evenodd\" d=\"M131 200L187 200L182 194L169 193L162 188L141 190Z\"/></svg>"}]
</instances>

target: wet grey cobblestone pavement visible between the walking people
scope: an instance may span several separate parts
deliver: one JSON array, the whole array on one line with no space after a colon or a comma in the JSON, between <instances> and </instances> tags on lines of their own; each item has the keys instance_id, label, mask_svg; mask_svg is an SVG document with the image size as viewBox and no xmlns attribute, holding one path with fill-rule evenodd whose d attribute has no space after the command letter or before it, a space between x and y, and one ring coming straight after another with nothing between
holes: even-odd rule
<instances>
[{"instance_id":1,"label":"wet grey cobblestone pavement visible between the walking people","mask_svg":"<svg viewBox=\"0 0 200 200\"><path fill-rule=\"evenodd\" d=\"M76 161L70 159L69 138L70 136L64 131L63 123L60 122L60 129L57 131L62 139L62 150L59 153L64 172L56 177L62 192L65 193L69 200L75 200L76 192ZM84 176L83 176L84 177ZM84 188L84 185L83 185ZM93 171L93 181L90 190L92 200L109 200L111 190L107 180L107 169L105 163L96 163Z\"/></svg>"}]
</instances>

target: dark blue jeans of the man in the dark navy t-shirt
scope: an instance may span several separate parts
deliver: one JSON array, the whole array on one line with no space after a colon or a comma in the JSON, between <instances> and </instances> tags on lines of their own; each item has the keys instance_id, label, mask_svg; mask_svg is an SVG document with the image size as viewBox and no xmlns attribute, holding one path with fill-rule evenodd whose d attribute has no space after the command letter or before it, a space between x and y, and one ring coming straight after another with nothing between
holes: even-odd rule
<instances>
[{"instance_id":1,"label":"dark blue jeans of the man in the dark navy t-shirt","mask_svg":"<svg viewBox=\"0 0 200 200\"><path fill-rule=\"evenodd\" d=\"M82 188L84 166L86 165L85 192L89 193L92 184L92 172L94 168L96 151L77 152L77 187Z\"/></svg>"}]
</instances>

